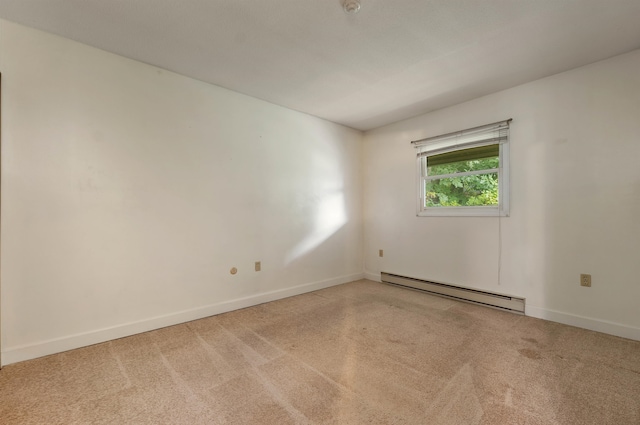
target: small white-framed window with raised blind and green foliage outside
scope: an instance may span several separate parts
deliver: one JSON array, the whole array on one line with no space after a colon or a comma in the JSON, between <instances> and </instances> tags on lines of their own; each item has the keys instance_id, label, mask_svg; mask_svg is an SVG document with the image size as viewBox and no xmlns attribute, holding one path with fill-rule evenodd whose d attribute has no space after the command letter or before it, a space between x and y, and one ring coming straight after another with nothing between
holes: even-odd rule
<instances>
[{"instance_id":1,"label":"small white-framed window with raised blind and green foliage outside","mask_svg":"<svg viewBox=\"0 0 640 425\"><path fill-rule=\"evenodd\" d=\"M419 216L509 215L510 122L411 142Z\"/></svg>"}]
</instances>

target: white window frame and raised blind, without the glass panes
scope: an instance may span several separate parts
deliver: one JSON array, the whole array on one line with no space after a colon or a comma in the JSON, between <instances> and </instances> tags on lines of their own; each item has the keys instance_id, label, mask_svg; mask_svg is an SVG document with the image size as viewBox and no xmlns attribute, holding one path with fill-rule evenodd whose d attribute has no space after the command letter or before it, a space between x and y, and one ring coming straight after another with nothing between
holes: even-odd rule
<instances>
[{"instance_id":1,"label":"white window frame and raised blind, without the glass panes","mask_svg":"<svg viewBox=\"0 0 640 425\"><path fill-rule=\"evenodd\" d=\"M447 133L441 136L411 142L418 149L417 155L417 215L419 217L473 217L509 215L509 123L500 121L468 130ZM498 173L498 205L495 206L459 206L426 207L424 204L425 186L432 178L426 175L427 158L433 155L487 145L499 145L500 165L496 169L457 173L455 176ZM452 177L442 175L437 178Z\"/></svg>"}]
</instances>

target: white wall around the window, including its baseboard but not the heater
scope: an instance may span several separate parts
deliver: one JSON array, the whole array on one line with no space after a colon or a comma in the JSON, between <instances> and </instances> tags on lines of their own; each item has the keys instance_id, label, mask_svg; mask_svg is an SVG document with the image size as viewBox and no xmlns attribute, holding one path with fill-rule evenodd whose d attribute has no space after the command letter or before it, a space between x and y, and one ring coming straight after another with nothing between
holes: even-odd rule
<instances>
[{"instance_id":1,"label":"white wall around the window, including its baseboard but not the heater","mask_svg":"<svg viewBox=\"0 0 640 425\"><path fill-rule=\"evenodd\" d=\"M416 217L409 142L508 118L511 216ZM367 133L367 276L525 296L528 315L640 339L639 135L640 50Z\"/></svg>"}]
</instances>

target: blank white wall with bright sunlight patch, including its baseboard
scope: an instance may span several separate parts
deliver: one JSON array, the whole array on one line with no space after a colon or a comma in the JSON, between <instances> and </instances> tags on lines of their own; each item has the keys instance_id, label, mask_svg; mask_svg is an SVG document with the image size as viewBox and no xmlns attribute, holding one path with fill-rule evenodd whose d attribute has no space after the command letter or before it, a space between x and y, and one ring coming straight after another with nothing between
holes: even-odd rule
<instances>
[{"instance_id":1,"label":"blank white wall with bright sunlight patch, including its baseboard","mask_svg":"<svg viewBox=\"0 0 640 425\"><path fill-rule=\"evenodd\" d=\"M3 364L362 277L360 132L7 21L0 72Z\"/></svg>"}]
</instances>

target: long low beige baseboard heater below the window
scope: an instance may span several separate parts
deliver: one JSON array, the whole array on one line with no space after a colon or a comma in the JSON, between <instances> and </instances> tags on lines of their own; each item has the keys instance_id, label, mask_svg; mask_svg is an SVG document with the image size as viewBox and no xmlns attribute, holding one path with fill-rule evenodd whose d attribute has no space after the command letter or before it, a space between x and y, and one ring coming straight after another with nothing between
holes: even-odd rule
<instances>
[{"instance_id":1,"label":"long low beige baseboard heater below the window","mask_svg":"<svg viewBox=\"0 0 640 425\"><path fill-rule=\"evenodd\" d=\"M452 298L458 301L465 301L512 313L524 314L524 298L479 291L477 289L464 288L462 286L449 285L446 283L431 282L412 277L399 276L386 272L381 273L381 278L384 283L389 283L391 285L417 289L419 291L428 292L441 297Z\"/></svg>"}]
</instances>

